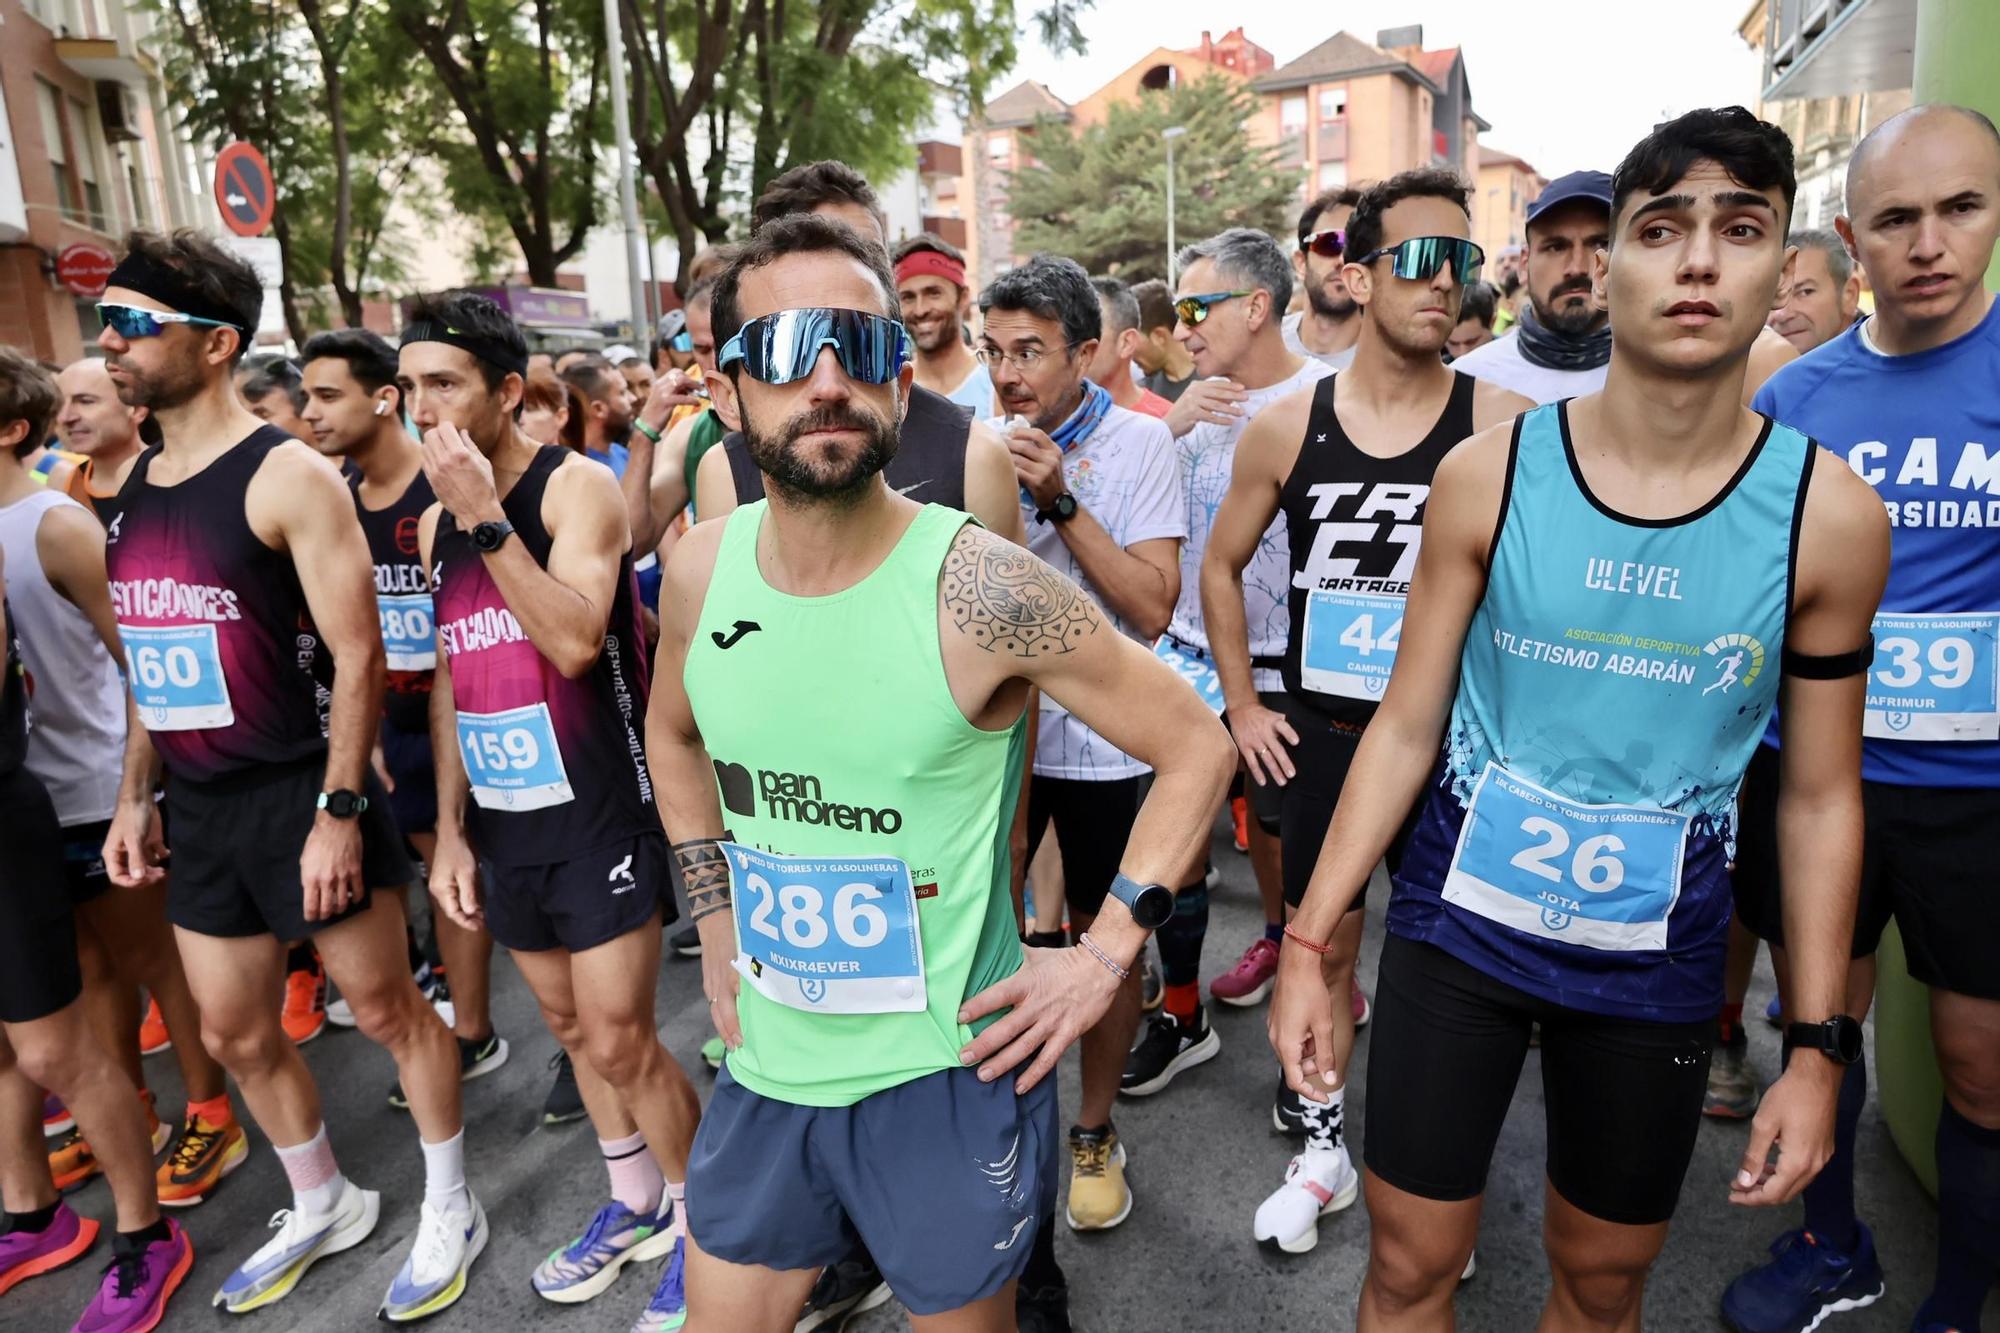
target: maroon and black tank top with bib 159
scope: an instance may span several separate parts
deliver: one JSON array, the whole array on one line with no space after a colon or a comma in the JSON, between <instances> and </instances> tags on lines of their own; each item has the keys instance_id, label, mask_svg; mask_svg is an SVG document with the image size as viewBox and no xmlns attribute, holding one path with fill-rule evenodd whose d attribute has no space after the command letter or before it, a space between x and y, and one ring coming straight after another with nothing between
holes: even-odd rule
<instances>
[{"instance_id":1,"label":"maroon and black tank top with bib 159","mask_svg":"<svg viewBox=\"0 0 2000 1333\"><path fill-rule=\"evenodd\" d=\"M554 544L542 526L542 494L568 458L566 448L542 446L500 500L514 524L510 540L520 540L542 568ZM552 865L658 833L632 554L618 558L604 650L574 681L528 640L452 510L438 514L430 586L438 638L452 664L458 759L472 783L466 827L478 855L498 865Z\"/></svg>"}]
</instances>

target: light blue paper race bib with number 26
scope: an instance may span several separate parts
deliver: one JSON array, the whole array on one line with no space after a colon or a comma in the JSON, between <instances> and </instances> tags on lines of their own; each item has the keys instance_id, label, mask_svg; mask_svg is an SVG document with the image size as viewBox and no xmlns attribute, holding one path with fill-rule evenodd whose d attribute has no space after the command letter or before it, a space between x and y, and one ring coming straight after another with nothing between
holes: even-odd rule
<instances>
[{"instance_id":1,"label":"light blue paper race bib with number 26","mask_svg":"<svg viewBox=\"0 0 2000 1333\"><path fill-rule=\"evenodd\" d=\"M1586 949L1666 949L1688 823L1674 811L1582 805L1488 763L1444 901Z\"/></svg>"}]
</instances>

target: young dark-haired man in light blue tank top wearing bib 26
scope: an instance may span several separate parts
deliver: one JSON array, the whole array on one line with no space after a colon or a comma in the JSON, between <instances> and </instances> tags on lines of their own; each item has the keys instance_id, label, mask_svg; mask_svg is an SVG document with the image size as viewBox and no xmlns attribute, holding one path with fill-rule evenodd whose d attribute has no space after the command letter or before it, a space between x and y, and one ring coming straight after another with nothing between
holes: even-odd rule
<instances>
[{"instance_id":1,"label":"young dark-haired man in light blue tank top wearing bib 26","mask_svg":"<svg viewBox=\"0 0 2000 1333\"><path fill-rule=\"evenodd\" d=\"M1432 482L1396 673L1286 927L1270 1013L1286 1079L1324 1099L1340 1071L1320 959L1422 799L1368 1061L1364 1331L1450 1327L1536 1023L1554 1273L1540 1327L1640 1327L1700 1127L1730 811L1780 677L1802 761L1780 793L1786 861L1810 885L1786 925L1796 1011L1816 1025L1730 1197L1782 1203L1826 1161L1836 1059L1860 1045L1836 1015L1888 524L1846 468L1814 466L1808 438L1740 402L1790 268L1792 192L1790 142L1738 106L1644 138L1594 270L1618 328L1604 392L1482 430ZM1738 646L1754 673L1702 697Z\"/></svg>"}]
</instances>

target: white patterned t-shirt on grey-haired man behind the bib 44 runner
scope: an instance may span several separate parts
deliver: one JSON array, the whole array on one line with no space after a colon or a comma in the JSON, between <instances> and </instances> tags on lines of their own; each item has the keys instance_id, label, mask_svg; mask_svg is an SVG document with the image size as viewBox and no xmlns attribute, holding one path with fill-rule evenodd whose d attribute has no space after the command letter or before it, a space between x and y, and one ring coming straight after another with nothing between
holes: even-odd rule
<instances>
[{"instance_id":1,"label":"white patterned t-shirt on grey-haired man behind the bib 44 runner","mask_svg":"<svg viewBox=\"0 0 2000 1333\"><path fill-rule=\"evenodd\" d=\"M1208 550L1208 532L1216 526L1216 510L1222 506L1222 492L1230 488L1236 470L1236 440L1242 438L1250 418L1266 406L1294 394L1308 384L1318 384L1332 366L1306 356L1306 364L1286 380L1268 388L1252 388L1244 400L1244 414L1228 426L1202 422L1180 436L1180 472L1188 486L1188 540L1180 546L1180 602L1174 606L1174 622L1168 632L1188 646L1208 652L1208 628L1202 622L1202 552ZM1292 610L1286 604L1292 584L1292 546L1286 536L1284 510L1272 518L1258 542L1256 554L1244 566L1244 620L1250 624L1250 656L1284 656L1284 642L1292 634ZM1282 691L1284 683L1274 669L1250 673L1260 693Z\"/></svg>"}]
</instances>

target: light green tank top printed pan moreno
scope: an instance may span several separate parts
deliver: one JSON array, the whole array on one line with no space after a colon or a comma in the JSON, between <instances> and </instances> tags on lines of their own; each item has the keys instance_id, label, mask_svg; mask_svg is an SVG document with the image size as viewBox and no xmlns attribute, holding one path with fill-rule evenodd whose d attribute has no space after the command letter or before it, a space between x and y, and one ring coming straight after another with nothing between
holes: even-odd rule
<instances>
[{"instance_id":1,"label":"light green tank top printed pan moreno","mask_svg":"<svg viewBox=\"0 0 2000 1333\"><path fill-rule=\"evenodd\" d=\"M1026 727L974 727L944 679L938 574L966 514L924 506L874 572L830 596L764 582L764 514L756 500L724 520L682 677L716 767L722 819L736 843L766 853L906 863L926 1007L812 1013L746 979L744 1045L730 1053L730 1073L762 1097L844 1107L956 1069L960 1047L984 1027L958 1023L960 1003L1020 969L1008 831ZM748 891L736 885L738 937ZM824 941L828 931L804 921L794 937L806 935ZM758 967L746 959L768 957L766 943L740 945L738 965Z\"/></svg>"}]
</instances>

